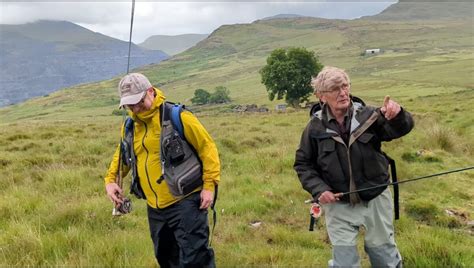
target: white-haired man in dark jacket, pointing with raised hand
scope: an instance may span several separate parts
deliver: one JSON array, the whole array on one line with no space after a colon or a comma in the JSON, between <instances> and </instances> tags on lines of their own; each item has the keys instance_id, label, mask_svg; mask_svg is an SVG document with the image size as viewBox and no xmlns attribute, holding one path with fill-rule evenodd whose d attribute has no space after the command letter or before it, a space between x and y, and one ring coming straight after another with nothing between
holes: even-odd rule
<instances>
[{"instance_id":1,"label":"white-haired man in dark jacket, pointing with raised hand","mask_svg":"<svg viewBox=\"0 0 474 268\"><path fill-rule=\"evenodd\" d=\"M294 168L325 211L333 246L329 266L360 266L356 242L363 227L372 266L399 267L389 189L341 193L389 182L381 142L410 132L413 119L389 98L381 108L353 101L349 77L341 69L324 68L312 85L320 105L302 134Z\"/></svg>"}]
</instances>

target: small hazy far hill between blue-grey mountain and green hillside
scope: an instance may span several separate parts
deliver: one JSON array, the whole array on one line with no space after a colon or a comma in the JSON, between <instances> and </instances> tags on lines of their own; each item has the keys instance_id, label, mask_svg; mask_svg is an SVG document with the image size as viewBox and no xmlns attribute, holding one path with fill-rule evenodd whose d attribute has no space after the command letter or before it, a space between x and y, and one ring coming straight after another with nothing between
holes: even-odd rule
<instances>
[{"instance_id":1,"label":"small hazy far hill between blue-grey mountain and green hillside","mask_svg":"<svg viewBox=\"0 0 474 268\"><path fill-rule=\"evenodd\" d=\"M153 35L138 45L146 49L161 50L168 55L176 55L207 36L207 34Z\"/></svg>"}]
</instances>

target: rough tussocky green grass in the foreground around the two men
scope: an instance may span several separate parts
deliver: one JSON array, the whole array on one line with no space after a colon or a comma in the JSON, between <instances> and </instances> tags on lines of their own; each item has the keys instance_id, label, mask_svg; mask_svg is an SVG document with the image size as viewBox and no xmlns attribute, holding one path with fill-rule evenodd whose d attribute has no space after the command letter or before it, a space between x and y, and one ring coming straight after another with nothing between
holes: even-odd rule
<instances>
[{"instance_id":1,"label":"rough tussocky green grass in the foreground around the two men","mask_svg":"<svg viewBox=\"0 0 474 268\"><path fill-rule=\"evenodd\" d=\"M111 118L3 128L8 142L0 145L5 151L0 161L2 265L153 266L144 202L134 200L135 210L125 217L110 215L102 176L118 138L119 118ZM315 233L307 231L309 208L303 201L309 195L292 169L307 111L202 114L200 119L222 161L213 239L219 266L325 264L331 253L324 224ZM420 148L416 137L423 132L417 127L386 146L398 161L400 179L469 164L472 151L439 149L441 163L397 157ZM12 143L21 149L12 150ZM397 238L407 266L472 261L468 245L474 243L465 222L444 213L454 209L472 215L472 176L460 173L401 186ZM256 221L262 222L259 228L250 225ZM414 237L420 241L412 243ZM446 246L453 243L459 246ZM363 264L368 265L366 257Z\"/></svg>"}]
</instances>

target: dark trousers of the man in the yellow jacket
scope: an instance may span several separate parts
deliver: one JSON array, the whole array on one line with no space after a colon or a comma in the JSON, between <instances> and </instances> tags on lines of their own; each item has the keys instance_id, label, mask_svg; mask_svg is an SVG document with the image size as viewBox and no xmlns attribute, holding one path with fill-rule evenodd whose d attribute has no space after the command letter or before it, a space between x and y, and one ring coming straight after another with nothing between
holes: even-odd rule
<instances>
[{"instance_id":1,"label":"dark trousers of the man in the yellow jacket","mask_svg":"<svg viewBox=\"0 0 474 268\"><path fill-rule=\"evenodd\" d=\"M215 267L207 210L199 209L200 202L197 192L164 209L148 207L151 239L162 268Z\"/></svg>"}]
</instances>

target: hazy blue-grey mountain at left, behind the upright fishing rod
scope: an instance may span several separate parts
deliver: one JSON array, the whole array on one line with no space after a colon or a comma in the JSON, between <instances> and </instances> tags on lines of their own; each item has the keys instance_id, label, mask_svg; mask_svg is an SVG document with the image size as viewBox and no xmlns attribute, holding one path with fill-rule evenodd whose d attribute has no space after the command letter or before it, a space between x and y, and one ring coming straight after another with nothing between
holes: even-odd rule
<instances>
[{"instance_id":1,"label":"hazy blue-grey mountain at left, behind the upright fishing rod","mask_svg":"<svg viewBox=\"0 0 474 268\"><path fill-rule=\"evenodd\" d=\"M128 43L66 21L0 25L0 106L127 70ZM132 46L132 68L168 56Z\"/></svg>"}]
</instances>

